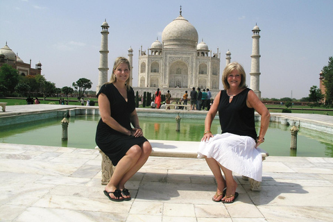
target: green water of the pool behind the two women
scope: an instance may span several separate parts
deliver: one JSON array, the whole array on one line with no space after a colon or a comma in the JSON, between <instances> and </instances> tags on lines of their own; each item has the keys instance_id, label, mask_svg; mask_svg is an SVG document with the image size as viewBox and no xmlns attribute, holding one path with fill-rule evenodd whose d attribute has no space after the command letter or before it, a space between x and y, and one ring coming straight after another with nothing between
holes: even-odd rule
<instances>
[{"instance_id":1,"label":"green water of the pool behind the two women","mask_svg":"<svg viewBox=\"0 0 333 222\"><path fill-rule=\"evenodd\" d=\"M64 146L94 148L98 116L76 116L69 118L68 141L62 142L60 119L20 123L0 130L0 142L40 146ZM175 118L139 117L140 126L147 139L200 141L204 131L204 119L181 119L180 132L176 131ZM259 122L256 123L257 131ZM270 123L265 142L260 147L270 155L300 157L333 157L332 135L300 128L297 151L290 150L290 126ZM214 120L212 133L221 133L219 121ZM196 147L194 147L196 149Z\"/></svg>"}]
</instances>

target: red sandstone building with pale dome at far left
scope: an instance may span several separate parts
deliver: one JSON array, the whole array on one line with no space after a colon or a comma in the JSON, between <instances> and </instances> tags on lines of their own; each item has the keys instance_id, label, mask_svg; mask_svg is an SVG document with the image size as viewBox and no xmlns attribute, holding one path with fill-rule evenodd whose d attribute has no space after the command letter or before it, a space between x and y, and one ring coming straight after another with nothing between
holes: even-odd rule
<instances>
[{"instance_id":1,"label":"red sandstone building with pale dome at far left","mask_svg":"<svg viewBox=\"0 0 333 222\"><path fill-rule=\"evenodd\" d=\"M2 67L3 64L8 64L14 69L17 69L21 76L36 76L42 74L42 64L40 62L35 65L35 69L31 68L31 60L30 63L24 63L23 60L8 47L7 42L6 46L0 49L0 67Z\"/></svg>"}]
</instances>

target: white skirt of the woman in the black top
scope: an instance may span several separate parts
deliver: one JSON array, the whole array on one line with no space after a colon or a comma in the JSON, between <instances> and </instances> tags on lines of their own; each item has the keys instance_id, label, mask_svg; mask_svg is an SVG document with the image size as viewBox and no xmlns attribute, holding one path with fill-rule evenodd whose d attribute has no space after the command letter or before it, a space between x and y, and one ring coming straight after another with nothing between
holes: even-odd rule
<instances>
[{"instance_id":1,"label":"white skirt of the woman in the black top","mask_svg":"<svg viewBox=\"0 0 333 222\"><path fill-rule=\"evenodd\" d=\"M262 181L262 154L252 137L216 134L209 141L200 142L198 158L204 156L214 158L230 171Z\"/></svg>"}]
</instances>

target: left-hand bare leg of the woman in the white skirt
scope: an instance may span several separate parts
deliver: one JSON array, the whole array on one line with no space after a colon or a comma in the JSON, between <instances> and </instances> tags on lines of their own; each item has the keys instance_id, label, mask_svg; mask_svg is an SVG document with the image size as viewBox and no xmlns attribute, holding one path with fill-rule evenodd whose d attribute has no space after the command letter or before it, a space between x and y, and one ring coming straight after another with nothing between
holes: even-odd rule
<instances>
[{"instance_id":1,"label":"left-hand bare leg of the woman in the white skirt","mask_svg":"<svg viewBox=\"0 0 333 222\"><path fill-rule=\"evenodd\" d=\"M223 196L219 196L219 194L222 194L223 189L225 188L225 180L222 176L220 165L213 158L205 157L205 160L208 164L208 167L210 167L210 170L212 171L212 173L215 177L216 183L217 183L216 194L213 196L213 200L219 201L219 200L221 200L221 198L223 198Z\"/></svg>"}]
</instances>

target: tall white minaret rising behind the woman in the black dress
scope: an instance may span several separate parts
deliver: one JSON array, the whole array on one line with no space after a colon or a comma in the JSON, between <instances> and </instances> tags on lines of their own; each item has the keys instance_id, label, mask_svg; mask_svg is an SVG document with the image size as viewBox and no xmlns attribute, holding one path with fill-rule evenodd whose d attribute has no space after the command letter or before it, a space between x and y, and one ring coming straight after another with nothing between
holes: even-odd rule
<instances>
[{"instance_id":1,"label":"tall white minaret rising behind the woman in the black dress","mask_svg":"<svg viewBox=\"0 0 333 222\"><path fill-rule=\"evenodd\" d=\"M108 22L103 22L101 25L102 27L102 40L101 40L101 50L99 53L101 53L101 56L99 58L99 85L96 87L96 94L99 93L99 89L101 89L101 86L108 82L108 35L109 31L108 28L110 27Z\"/></svg>"}]
</instances>

